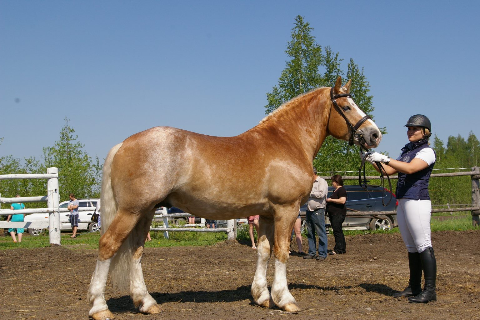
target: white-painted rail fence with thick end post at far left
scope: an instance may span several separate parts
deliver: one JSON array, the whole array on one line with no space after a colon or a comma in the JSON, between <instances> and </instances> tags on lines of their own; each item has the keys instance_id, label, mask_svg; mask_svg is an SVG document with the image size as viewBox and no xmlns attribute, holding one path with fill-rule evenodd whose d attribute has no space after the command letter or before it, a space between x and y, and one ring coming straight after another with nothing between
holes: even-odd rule
<instances>
[{"instance_id":1,"label":"white-painted rail fence with thick end post at far left","mask_svg":"<svg viewBox=\"0 0 480 320\"><path fill-rule=\"evenodd\" d=\"M60 246L60 211L59 211L59 170L56 167L47 169L47 174L15 174L0 175L4 179L48 179L47 196L1 198L0 203L17 202L47 202L47 208L23 209L23 210L0 210L0 215L25 214L25 213L49 213L47 222L7 222L0 221L0 228L47 228L50 236L50 246Z\"/></svg>"}]
</instances>

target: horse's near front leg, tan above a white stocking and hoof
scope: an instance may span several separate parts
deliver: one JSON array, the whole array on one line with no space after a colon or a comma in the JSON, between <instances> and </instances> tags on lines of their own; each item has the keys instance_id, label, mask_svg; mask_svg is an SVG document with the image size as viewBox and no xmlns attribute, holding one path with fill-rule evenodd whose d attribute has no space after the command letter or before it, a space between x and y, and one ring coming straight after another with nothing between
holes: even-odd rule
<instances>
[{"instance_id":1,"label":"horse's near front leg, tan above a white stocking and hoof","mask_svg":"<svg viewBox=\"0 0 480 320\"><path fill-rule=\"evenodd\" d=\"M275 218L275 272L272 284L272 299L275 304L285 311L297 312L300 307L295 298L288 291L287 261L290 235L298 215L298 207L284 206L277 208Z\"/></svg>"}]
</instances>

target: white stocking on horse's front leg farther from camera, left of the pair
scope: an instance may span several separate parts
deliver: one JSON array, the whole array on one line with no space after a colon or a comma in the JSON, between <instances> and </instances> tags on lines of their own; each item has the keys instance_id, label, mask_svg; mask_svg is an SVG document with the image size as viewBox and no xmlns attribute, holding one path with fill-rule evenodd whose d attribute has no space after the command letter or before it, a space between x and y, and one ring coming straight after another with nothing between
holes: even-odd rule
<instances>
[{"instance_id":1,"label":"white stocking on horse's front leg farther from camera, left of the pair","mask_svg":"<svg viewBox=\"0 0 480 320\"><path fill-rule=\"evenodd\" d=\"M268 291L267 286L267 265L268 260L270 260L270 243L265 236L262 236L258 239L257 247L257 269L255 271L255 276L253 277L252 293L253 301L259 306L264 306L267 308L271 306L271 297L270 292Z\"/></svg>"}]
</instances>

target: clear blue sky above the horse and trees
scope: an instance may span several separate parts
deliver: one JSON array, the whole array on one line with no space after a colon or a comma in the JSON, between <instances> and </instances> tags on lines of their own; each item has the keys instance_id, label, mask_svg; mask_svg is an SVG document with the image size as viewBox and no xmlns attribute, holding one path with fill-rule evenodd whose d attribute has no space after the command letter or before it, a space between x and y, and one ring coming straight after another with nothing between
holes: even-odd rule
<instances>
[{"instance_id":1,"label":"clear blue sky above the horse and trees","mask_svg":"<svg viewBox=\"0 0 480 320\"><path fill-rule=\"evenodd\" d=\"M42 155L71 120L103 159L128 136L172 126L234 136L264 118L294 19L353 58L396 156L407 119L480 138L480 1L0 0L0 156Z\"/></svg>"}]
</instances>

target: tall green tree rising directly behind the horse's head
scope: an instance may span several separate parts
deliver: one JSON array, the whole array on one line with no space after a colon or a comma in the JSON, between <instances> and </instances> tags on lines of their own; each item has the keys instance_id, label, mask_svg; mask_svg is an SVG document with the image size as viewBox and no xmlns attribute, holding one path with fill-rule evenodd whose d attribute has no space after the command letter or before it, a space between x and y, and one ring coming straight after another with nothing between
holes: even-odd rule
<instances>
[{"instance_id":1,"label":"tall green tree rising directly behind the horse's head","mask_svg":"<svg viewBox=\"0 0 480 320\"><path fill-rule=\"evenodd\" d=\"M313 28L300 15L295 18L292 40L288 42L285 53L291 59L278 78L278 84L267 93L265 113L274 111L283 103L297 95L306 93L320 86L333 86L336 78L345 74L341 69L343 59L330 47L322 47L312 36ZM347 66L347 78L352 79L351 94L357 105L372 117L372 95L370 83L366 80L363 69L359 69L353 59ZM386 133L382 128L383 133ZM348 146L348 142L327 137L313 161L320 171L357 170L360 164L358 147ZM372 168L373 169L373 168Z\"/></svg>"}]
</instances>

